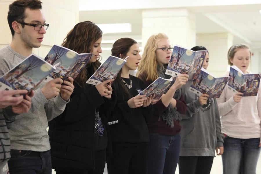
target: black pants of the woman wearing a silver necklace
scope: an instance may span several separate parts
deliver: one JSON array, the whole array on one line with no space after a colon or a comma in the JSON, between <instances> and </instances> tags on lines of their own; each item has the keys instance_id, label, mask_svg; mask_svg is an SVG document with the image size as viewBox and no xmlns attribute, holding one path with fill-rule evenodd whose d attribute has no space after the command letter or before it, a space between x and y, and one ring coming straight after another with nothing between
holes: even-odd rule
<instances>
[{"instance_id":1,"label":"black pants of the woman wearing a silver necklace","mask_svg":"<svg viewBox=\"0 0 261 174\"><path fill-rule=\"evenodd\" d=\"M148 145L112 146L107 159L108 174L147 174Z\"/></svg>"}]
</instances>

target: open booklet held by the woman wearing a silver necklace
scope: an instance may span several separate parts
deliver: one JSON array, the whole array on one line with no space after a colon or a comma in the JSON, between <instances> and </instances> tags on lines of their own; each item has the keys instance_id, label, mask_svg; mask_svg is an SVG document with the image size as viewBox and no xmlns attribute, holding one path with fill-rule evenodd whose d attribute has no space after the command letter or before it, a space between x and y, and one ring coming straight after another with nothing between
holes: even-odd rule
<instances>
[{"instance_id":1,"label":"open booklet held by the woman wearing a silver necklace","mask_svg":"<svg viewBox=\"0 0 261 174\"><path fill-rule=\"evenodd\" d=\"M154 99L160 99L162 94L167 92L168 87L171 86L175 80L176 76L171 79L163 79L159 77L138 95L146 95L146 97L149 97L150 95L155 94Z\"/></svg>"}]
</instances>

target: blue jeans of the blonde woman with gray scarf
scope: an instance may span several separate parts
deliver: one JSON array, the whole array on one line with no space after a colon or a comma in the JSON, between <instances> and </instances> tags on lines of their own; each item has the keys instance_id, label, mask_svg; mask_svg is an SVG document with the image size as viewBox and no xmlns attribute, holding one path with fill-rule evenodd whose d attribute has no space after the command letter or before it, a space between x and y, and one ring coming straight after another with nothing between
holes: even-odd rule
<instances>
[{"instance_id":1,"label":"blue jeans of the blonde woman with gray scarf","mask_svg":"<svg viewBox=\"0 0 261 174\"><path fill-rule=\"evenodd\" d=\"M148 174L174 174L180 155L180 133L162 135L150 133L148 144Z\"/></svg>"}]
</instances>

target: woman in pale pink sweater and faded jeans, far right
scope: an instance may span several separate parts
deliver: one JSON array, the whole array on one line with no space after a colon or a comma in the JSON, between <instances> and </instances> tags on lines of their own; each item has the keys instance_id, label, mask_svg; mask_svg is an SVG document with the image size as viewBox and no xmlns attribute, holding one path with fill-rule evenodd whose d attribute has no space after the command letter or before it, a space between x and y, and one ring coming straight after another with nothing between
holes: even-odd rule
<instances>
[{"instance_id":1,"label":"woman in pale pink sweater and faded jeans, far right","mask_svg":"<svg viewBox=\"0 0 261 174\"><path fill-rule=\"evenodd\" d=\"M228 63L244 74L249 73L250 59L250 49L244 44L228 51ZM242 97L226 86L217 102L224 134L223 174L255 174L261 147L261 85L258 95L251 97Z\"/></svg>"}]
</instances>

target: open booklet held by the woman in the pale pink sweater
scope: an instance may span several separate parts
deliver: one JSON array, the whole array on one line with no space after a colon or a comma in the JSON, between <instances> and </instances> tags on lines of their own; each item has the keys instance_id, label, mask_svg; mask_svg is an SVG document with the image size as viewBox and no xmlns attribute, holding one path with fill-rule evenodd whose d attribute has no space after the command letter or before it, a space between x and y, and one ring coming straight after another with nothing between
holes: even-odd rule
<instances>
[{"instance_id":1,"label":"open booklet held by the woman in the pale pink sweater","mask_svg":"<svg viewBox=\"0 0 261 174\"><path fill-rule=\"evenodd\" d=\"M228 88L233 92L243 93L243 97L256 96L260 85L261 73L244 74L238 67L231 66L229 71Z\"/></svg>"}]
</instances>

